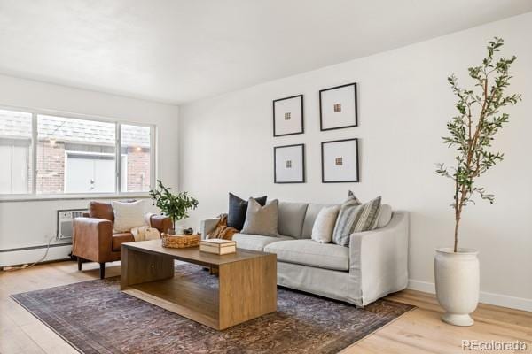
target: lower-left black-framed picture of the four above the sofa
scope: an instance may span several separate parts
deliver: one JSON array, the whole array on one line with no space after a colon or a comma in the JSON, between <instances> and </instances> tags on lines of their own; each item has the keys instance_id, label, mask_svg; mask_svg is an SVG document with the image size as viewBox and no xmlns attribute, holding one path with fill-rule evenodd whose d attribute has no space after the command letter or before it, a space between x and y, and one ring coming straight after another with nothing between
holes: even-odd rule
<instances>
[{"instance_id":1,"label":"lower-left black-framed picture of the four above the sofa","mask_svg":"<svg viewBox=\"0 0 532 354\"><path fill-rule=\"evenodd\" d=\"M273 164L273 181L275 183L304 183L305 145L274 147Z\"/></svg>"}]
</instances>

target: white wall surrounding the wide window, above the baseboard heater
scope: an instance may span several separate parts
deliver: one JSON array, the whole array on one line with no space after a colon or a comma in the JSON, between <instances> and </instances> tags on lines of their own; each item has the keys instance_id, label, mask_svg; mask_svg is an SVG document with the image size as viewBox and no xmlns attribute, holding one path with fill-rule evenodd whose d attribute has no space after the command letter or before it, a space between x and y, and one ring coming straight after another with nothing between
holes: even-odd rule
<instances>
[{"instance_id":1,"label":"white wall surrounding the wide window, above the baseboard heater","mask_svg":"<svg viewBox=\"0 0 532 354\"><path fill-rule=\"evenodd\" d=\"M158 178L177 187L177 106L3 75L0 75L0 106L28 107L155 124L158 135ZM83 208L87 204L88 200L0 202L0 250L45 244L56 233L58 209ZM149 207L148 201L146 204ZM66 247L60 254L57 250L53 254L55 258L61 258L68 251L69 248ZM32 261L42 253L42 250L9 254L0 252L0 266Z\"/></svg>"}]
</instances>

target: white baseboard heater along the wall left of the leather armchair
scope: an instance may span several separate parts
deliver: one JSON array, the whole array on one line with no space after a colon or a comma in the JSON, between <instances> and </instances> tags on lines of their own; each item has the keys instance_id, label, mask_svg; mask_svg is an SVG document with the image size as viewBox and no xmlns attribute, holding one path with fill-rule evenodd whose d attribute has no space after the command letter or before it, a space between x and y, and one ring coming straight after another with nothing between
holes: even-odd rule
<instances>
[{"instance_id":1,"label":"white baseboard heater along the wall left of the leather armchair","mask_svg":"<svg viewBox=\"0 0 532 354\"><path fill-rule=\"evenodd\" d=\"M68 254L71 251L71 244L54 244L53 247L48 250L48 255L43 259L43 261L68 258ZM46 247L27 250L2 251L0 252L0 266L31 264L42 258L45 252Z\"/></svg>"}]
</instances>

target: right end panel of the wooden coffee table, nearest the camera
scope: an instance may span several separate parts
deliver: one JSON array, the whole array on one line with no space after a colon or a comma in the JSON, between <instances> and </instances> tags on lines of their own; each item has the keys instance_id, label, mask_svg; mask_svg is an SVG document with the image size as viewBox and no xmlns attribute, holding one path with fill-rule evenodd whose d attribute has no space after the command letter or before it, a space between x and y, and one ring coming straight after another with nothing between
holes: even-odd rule
<instances>
[{"instance_id":1,"label":"right end panel of the wooden coffee table, nearest the camera","mask_svg":"<svg viewBox=\"0 0 532 354\"><path fill-rule=\"evenodd\" d=\"M277 311L277 259L261 258L220 265L219 328Z\"/></svg>"}]
</instances>

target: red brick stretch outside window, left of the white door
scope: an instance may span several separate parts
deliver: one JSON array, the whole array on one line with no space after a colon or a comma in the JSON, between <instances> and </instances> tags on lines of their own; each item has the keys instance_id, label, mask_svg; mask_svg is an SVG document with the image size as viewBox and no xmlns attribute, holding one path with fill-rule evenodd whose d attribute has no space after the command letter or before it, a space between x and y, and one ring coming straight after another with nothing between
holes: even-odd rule
<instances>
[{"instance_id":1,"label":"red brick stretch outside window, left of the white door","mask_svg":"<svg viewBox=\"0 0 532 354\"><path fill-rule=\"evenodd\" d=\"M65 190L65 144L38 142L37 193L56 194Z\"/></svg>"}]
</instances>

